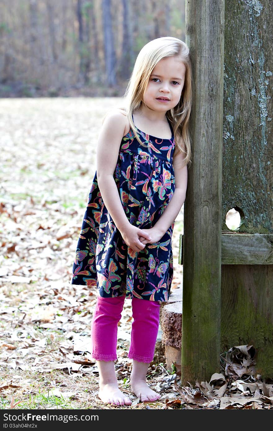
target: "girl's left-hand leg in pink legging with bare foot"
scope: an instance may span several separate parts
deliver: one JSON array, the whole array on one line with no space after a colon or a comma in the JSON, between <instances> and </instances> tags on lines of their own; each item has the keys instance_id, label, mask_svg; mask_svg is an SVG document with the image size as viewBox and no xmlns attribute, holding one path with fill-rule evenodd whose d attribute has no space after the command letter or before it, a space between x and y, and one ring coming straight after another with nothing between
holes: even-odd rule
<instances>
[{"instance_id":1,"label":"girl's left-hand leg in pink legging with bare foot","mask_svg":"<svg viewBox=\"0 0 273 431\"><path fill-rule=\"evenodd\" d=\"M91 323L91 356L97 360L100 375L99 397L104 403L130 405L132 401L119 390L115 363L117 327L125 297L98 296Z\"/></svg>"}]
</instances>

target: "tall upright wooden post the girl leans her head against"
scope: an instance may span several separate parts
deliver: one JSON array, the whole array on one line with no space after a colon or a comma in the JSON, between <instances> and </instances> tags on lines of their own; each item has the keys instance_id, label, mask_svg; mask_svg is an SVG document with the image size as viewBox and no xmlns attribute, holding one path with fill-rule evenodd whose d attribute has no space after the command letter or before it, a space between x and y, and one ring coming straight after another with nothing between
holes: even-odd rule
<instances>
[{"instance_id":1,"label":"tall upright wooden post the girl leans her head against","mask_svg":"<svg viewBox=\"0 0 273 431\"><path fill-rule=\"evenodd\" d=\"M224 0L186 1L193 69L184 209L182 384L220 371Z\"/></svg>"}]
</instances>

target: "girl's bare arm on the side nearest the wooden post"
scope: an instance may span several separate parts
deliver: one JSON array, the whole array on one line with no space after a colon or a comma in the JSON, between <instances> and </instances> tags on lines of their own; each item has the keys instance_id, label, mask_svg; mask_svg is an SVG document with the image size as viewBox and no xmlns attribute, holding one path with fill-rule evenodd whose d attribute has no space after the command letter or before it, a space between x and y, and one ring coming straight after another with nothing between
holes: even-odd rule
<instances>
[{"instance_id":1,"label":"girl's bare arm on the side nearest the wooden post","mask_svg":"<svg viewBox=\"0 0 273 431\"><path fill-rule=\"evenodd\" d=\"M175 221L179 211L185 201L186 190L188 184L188 168L187 165L181 167L183 162L182 153L178 153L177 156L173 159L173 169L175 175L175 191L172 196L172 199L169 201L168 205L164 209L163 213L160 215L160 218L154 224L151 229L143 229L142 231L149 232L151 234L152 240L143 239L140 237L140 240L143 244L157 242L169 227Z\"/></svg>"}]
</instances>

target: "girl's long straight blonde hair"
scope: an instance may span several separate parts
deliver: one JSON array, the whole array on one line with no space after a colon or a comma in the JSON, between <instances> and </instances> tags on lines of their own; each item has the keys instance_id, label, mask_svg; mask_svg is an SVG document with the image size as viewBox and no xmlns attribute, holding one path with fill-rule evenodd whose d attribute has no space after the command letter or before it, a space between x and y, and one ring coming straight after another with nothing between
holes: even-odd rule
<instances>
[{"instance_id":1,"label":"girl's long straight blonde hair","mask_svg":"<svg viewBox=\"0 0 273 431\"><path fill-rule=\"evenodd\" d=\"M166 117L173 126L173 133L176 142L174 157L180 151L183 158L183 166L191 163L191 141L189 134L189 116L191 113L191 62L189 58L189 49L187 45L176 37L159 37L148 42L135 60L135 66L132 71L129 84L125 95L125 108L132 131L138 142L145 147L145 144L138 137L138 131L133 123L132 114L139 109L143 103L144 92L146 91L152 70L157 63L170 56L179 56L185 65L185 81L182 89L179 103L166 112Z\"/></svg>"}]
</instances>

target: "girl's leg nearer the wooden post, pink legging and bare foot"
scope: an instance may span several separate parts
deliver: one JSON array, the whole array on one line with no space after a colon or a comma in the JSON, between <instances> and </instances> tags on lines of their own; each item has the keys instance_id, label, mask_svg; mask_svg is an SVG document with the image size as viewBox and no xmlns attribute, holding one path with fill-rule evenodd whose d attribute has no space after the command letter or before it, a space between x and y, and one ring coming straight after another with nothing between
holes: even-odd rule
<instances>
[{"instance_id":1,"label":"girl's leg nearer the wooden post, pink legging and bare foot","mask_svg":"<svg viewBox=\"0 0 273 431\"><path fill-rule=\"evenodd\" d=\"M132 392L140 401L156 401L160 398L146 383L149 363L154 358L154 347L159 326L160 303L139 298L132 299L131 345L128 357L133 359L131 373Z\"/></svg>"}]
</instances>

